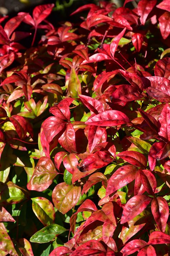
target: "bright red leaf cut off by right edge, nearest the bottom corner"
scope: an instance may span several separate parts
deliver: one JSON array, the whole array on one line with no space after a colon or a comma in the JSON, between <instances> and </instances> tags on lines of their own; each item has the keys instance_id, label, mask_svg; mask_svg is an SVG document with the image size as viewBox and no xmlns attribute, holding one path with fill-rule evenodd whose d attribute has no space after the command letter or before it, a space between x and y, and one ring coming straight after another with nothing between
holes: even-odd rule
<instances>
[{"instance_id":1,"label":"bright red leaf cut off by right edge, nearest the bottom corner","mask_svg":"<svg viewBox=\"0 0 170 256\"><path fill-rule=\"evenodd\" d=\"M161 231L154 231L150 234L148 244L164 244L170 243L170 235L167 235Z\"/></svg>"}]
</instances>

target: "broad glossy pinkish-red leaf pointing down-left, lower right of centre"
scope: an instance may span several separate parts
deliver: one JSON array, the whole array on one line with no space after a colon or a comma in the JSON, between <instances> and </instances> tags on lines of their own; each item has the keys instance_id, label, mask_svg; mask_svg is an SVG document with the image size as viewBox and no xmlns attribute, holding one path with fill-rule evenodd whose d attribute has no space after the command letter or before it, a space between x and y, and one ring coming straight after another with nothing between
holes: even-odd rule
<instances>
[{"instance_id":1,"label":"broad glossy pinkish-red leaf pointing down-left, lower right of centre","mask_svg":"<svg viewBox=\"0 0 170 256\"><path fill-rule=\"evenodd\" d=\"M136 173L137 168L133 165L124 165L117 169L117 171L115 171L114 174L109 178L106 189L106 197L133 181Z\"/></svg>"}]
</instances>

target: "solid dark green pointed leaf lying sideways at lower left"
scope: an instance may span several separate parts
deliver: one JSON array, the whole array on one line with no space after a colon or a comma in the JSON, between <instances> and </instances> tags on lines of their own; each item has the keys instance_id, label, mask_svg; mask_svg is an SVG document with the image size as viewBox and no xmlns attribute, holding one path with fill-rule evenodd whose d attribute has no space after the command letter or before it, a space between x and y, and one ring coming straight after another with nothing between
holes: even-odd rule
<instances>
[{"instance_id":1,"label":"solid dark green pointed leaf lying sideways at lower left","mask_svg":"<svg viewBox=\"0 0 170 256\"><path fill-rule=\"evenodd\" d=\"M51 224L43 229L37 231L32 237L30 238L30 242L32 243L48 243L53 238L56 237L56 235L60 235L67 231L67 229L63 228L60 225L57 224Z\"/></svg>"}]
</instances>

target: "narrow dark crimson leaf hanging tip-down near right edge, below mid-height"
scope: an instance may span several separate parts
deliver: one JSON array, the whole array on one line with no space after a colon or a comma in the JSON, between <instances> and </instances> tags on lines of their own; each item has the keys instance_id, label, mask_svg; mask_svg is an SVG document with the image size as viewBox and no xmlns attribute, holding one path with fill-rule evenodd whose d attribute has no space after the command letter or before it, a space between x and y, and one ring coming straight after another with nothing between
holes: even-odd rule
<instances>
[{"instance_id":1,"label":"narrow dark crimson leaf hanging tip-down near right edge, below mid-height","mask_svg":"<svg viewBox=\"0 0 170 256\"><path fill-rule=\"evenodd\" d=\"M156 165L156 159L157 159L156 155L164 147L164 145L165 145L164 142L155 142L151 146L149 154L148 154L148 162L149 162L151 171L154 170L155 165Z\"/></svg>"}]
</instances>

